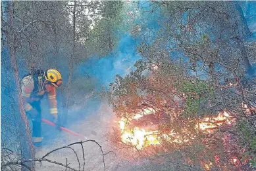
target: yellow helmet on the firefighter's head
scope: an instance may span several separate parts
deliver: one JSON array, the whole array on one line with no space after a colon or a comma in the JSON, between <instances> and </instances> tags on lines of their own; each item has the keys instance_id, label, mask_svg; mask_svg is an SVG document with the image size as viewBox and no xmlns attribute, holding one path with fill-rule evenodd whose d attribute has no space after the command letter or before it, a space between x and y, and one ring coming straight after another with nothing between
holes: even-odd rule
<instances>
[{"instance_id":1,"label":"yellow helmet on the firefighter's head","mask_svg":"<svg viewBox=\"0 0 256 171\"><path fill-rule=\"evenodd\" d=\"M56 87L61 86L61 84L63 83L61 73L56 69L47 69L45 71L45 79Z\"/></svg>"}]
</instances>

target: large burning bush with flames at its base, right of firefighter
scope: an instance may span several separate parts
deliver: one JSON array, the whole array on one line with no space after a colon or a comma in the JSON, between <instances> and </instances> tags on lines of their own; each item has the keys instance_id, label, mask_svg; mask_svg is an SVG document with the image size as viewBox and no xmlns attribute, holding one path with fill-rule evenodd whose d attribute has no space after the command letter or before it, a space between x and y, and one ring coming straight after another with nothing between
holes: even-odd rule
<instances>
[{"instance_id":1,"label":"large burning bush with flames at its base, right of firefighter","mask_svg":"<svg viewBox=\"0 0 256 171\"><path fill-rule=\"evenodd\" d=\"M139 50L145 59L130 75L117 76L109 89L119 118L118 141L142 151L152 145L159 151L180 149L184 162L199 163L205 170L249 169L251 154L242 157L247 148L240 147L237 125L247 122L255 108L242 104L245 89L240 83L200 80L154 45Z\"/></svg>"}]
</instances>

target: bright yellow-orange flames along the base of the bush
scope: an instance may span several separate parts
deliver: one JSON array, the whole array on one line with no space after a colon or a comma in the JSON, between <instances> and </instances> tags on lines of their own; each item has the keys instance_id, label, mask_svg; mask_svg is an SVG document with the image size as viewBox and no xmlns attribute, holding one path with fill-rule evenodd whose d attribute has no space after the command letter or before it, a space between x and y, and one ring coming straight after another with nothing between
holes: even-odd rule
<instances>
[{"instance_id":1,"label":"bright yellow-orange flames along the base of the bush","mask_svg":"<svg viewBox=\"0 0 256 171\"><path fill-rule=\"evenodd\" d=\"M143 128L132 128L129 130L128 125L133 119L140 119L143 115L150 115L155 113L155 110L152 108L143 109L141 113L134 115L132 119L122 118L119 123L119 128L121 131L121 141L126 144L132 144L137 149L142 149L149 145L160 145L162 140L166 140L172 143L188 143L190 140L195 138L195 134L192 134L190 131L184 128L181 132L182 134L170 130L166 134L160 134L158 130L147 131ZM212 130L218 128L221 124L230 122L230 115L224 111L224 113L219 113L217 117L205 117L195 124L195 130ZM185 136L184 136L185 135Z\"/></svg>"}]
</instances>

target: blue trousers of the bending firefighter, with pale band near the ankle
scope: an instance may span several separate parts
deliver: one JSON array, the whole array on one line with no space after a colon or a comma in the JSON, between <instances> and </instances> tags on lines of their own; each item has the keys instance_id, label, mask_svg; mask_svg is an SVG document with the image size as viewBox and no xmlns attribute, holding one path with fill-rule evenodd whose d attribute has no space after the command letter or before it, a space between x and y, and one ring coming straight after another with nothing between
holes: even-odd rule
<instances>
[{"instance_id":1,"label":"blue trousers of the bending firefighter, with pale band near the ankle","mask_svg":"<svg viewBox=\"0 0 256 171\"><path fill-rule=\"evenodd\" d=\"M43 137L41 136L41 107L40 107L40 100L37 102L33 102L30 105L36 111L38 111L38 115L36 117L32 117L32 142L35 146L41 146L43 142Z\"/></svg>"}]
</instances>

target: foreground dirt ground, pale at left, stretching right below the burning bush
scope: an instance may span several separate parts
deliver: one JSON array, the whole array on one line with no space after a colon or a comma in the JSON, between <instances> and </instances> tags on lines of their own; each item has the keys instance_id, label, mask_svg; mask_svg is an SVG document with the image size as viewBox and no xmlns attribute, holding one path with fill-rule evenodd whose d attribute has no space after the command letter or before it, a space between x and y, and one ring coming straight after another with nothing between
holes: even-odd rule
<instances>
[{"instance_id":1,"label":"foreground dirt ground, pale at left, stretching right below the burning bush","mask_svg":"<svg viewBox=\"0 0 256 171\"><path fill-rule=\"evenodd\" d=\"M94 142L84 143L84 155L85 162L82 157L81 145L73 145L72 148L78 155L78 160L72 149L61 149L51 153L46 159L51 161L61 162L68 166L76 168L77 170L195 170L188 168L187 166L181 166L178 162L166 162L166 157L144 157L148 153L147 150L137 151L133 147L120 146L116 147L116 144L109 140L113 128L116 127L116 117L111 107L107 104L102 104L98 111L95 111L93 115L86 117L84 121L78 121L76 124L68 126L70 130L78 132L83 136L86 136L84 140L95 140L103 149L105 158L105 167L103 163L103 155L99 145ZM80 142L82 139L77 136L72 136L66 132L60 132L55 138L52 145L47 147L41 147L36 149L36 157L41 158L49 151L56 149L57 147L63 147L74 142ZM110 153L108 153L111 151ZM144 154L142 154L144 153ZM147 155L148 156L148 155ZM80 169L79 169L80 166ZM63 166L57 164L42 162L42 164L36 164L36 170L65 170ZM69 169L67 169L69 170Z\"/></svg>"}]
</instances>

